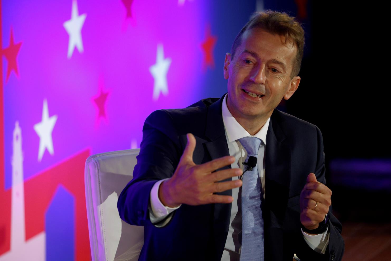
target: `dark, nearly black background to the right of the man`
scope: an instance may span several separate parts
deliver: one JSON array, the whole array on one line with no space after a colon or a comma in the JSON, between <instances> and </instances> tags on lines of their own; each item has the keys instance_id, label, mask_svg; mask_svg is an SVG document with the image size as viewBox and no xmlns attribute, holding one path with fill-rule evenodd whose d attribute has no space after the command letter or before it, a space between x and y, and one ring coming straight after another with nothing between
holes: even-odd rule
<instances>
[{"instance_id":1,"label":"dark, nearly black background to the right of the man","mask_svg":"<svg viewBox=\"0 0 391 261\"><path fill-rule=\"evenodd\" d=\"M343 260L390 260L389 14L365 5L308 1L300 87L280 106L323 133ZM269 8L298 14L293 1Z\"/></svg>"}]
</instances>

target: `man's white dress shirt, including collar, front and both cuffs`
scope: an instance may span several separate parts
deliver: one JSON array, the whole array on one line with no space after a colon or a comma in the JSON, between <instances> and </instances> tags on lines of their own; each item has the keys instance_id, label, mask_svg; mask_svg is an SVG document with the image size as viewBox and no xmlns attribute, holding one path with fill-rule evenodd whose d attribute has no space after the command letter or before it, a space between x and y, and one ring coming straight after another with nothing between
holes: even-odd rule
<instances>
[{"instance_id":1,"label":"man's white dress shirt, including collar, front and both cuffs","mask_svg":"<svg viewBox=\"0 0 391 261\"><path fill-rule=\"evenodd\" d=\"M270 118L267 119L266 123L262 128L255 134L250 135L240 124L236 121L236 119L232 116L230 111L228 110L227 104L226 104L227 95L225 95L224 100L222 102L222 119L224 122L224 130L225 135L228 143L228 150L230 152L230 156L235 157L235 162L231 164L231 168L240 168L243 169L242 162L246 160L247 152L243 148L242 144L240 144L239 139L243 137L257 137L263 141L263 144L261 146L267 146L267 140L266 140L266 134L267 130L269 128L269 121ZM265 155L264 159L260 160L258 156L258 162L257 162L257 168L258 173L260 177L260 181L262 184L262 191L264 193L264 198L266 196L265 193ZM309 174L309 173L308 173ZM238 176L233 177L233 180L237 180ZM159 180L154 184L154 186L151 189L151 210L149 213L149 218L152 223L156 223L158 221L163 220L168 214L170 214L172 211L178 209L178 207L166 207L164 206L158 197L158 191L159 186L161 182L164 180ZM235 216L238 214L238 204L237 199L239 198L239 187L232 189L232 196L233 196L233 202L232 202L232 208L231 208L231 217L230 217L230 227L228 230L228 236L226 240L226 244L224 247L224 252L221 258L221 261L233 261L233 260L239 260L240 257L240 245L237 240L235 239L233 235L237 235L238 232L241 230L240 227L233 227L233 220L235 219ZM240 215L240 213L239 213ZM165 223L167 223L169 220L167 220ZM235 231L234 230L239 230ZM318 234L315 236L308 235L303 230L301 230L303 233L304 239L307 242L308 246L314 249L318 253L324 254L326 251L326 247L328 245L328 227L326 229L326 232L323 234ZM231 255L230 255L231 252ZM237 253L237 254L235 254Z\"/></svg>"}]
</instances>

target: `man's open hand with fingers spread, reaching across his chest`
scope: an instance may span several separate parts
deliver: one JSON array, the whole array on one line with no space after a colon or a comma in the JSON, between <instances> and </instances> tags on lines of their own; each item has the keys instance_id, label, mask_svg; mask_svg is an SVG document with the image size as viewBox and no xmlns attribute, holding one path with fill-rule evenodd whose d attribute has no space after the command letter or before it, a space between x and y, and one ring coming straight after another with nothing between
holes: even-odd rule
<instances>
[{"instance_id":1,"label":"man's open hand with fingers spread, reaching across his chest","mask_svg":"<svg viewBox=\"0 0 391 261\"><path fill-rule=\"evenodd\" d=\"M193 162L194 148L194 135L188 133L187 145L174 175L160 184L158 195L161 203L167 207L178 207L182 203L188 205L231 203L233 201L232 196L213 193L240 187L242 185L241 180L219 181L233 176L240 176L242 175L242 170L224 169L213 171L231 165L235 161L235 157L221 157L196 165Z\"/></svg>"}]
</instances>

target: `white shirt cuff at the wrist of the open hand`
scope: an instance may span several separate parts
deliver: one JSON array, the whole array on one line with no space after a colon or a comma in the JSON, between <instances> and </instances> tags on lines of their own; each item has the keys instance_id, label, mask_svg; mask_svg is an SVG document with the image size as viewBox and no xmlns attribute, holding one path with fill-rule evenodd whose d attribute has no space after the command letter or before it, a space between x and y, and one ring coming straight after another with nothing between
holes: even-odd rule
<instances>
[{"instance_id":1,"label":"white shirt cuff at the wrist of the open hand","mask_svg":"<svg viewBox=\"0 0 391 261\"><path fill-rule=\"evenodd\" d=\"M168 216L168 214L178 209L182 205L181 204L178 207L166 207L165 205L163 205L163 203L161 203L158 193L159 193L160 184L164 180L168 180L168 178L159 180L153 185L151 189L150 201L151 201L152 211L149 212L149 219L151 220L152 223L156 223L160 220L163 220L166 216Z\"/></svg>"}]
</instances>

